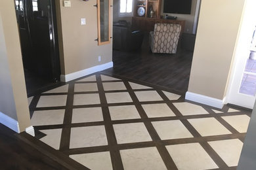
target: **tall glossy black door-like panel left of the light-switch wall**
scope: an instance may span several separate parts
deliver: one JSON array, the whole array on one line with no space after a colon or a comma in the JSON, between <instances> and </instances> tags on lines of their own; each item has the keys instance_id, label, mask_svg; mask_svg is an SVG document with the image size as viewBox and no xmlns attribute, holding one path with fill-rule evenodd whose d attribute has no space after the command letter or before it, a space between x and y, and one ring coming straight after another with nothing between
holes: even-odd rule
<instances>
[{"instance_id":1,"label":"tall glossy black door-like panel left of the light-switch wall","mask_svg":"<svg viewBox=\"0 0 256 170\"><path fill-rule=\"evenodd\" d=\"M60 80L53 0L14 0L28 96Z\"/></svg>"}]
</instances>

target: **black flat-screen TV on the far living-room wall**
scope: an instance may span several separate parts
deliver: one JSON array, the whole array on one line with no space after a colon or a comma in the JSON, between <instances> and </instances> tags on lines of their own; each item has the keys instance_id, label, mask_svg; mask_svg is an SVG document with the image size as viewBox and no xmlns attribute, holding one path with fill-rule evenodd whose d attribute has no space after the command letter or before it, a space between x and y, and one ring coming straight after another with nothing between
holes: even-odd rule
<instances>
[{"instance_id":1,"label":"black flat-screen TV on the far living-room wall","mask_svg":"<svg viewBox=\"0 0 256 170\"><path fill-rule=\"evenodd\" d=\"M190 14L192 0L164 0L163 13Z\"/></svg>"}]
</instances>

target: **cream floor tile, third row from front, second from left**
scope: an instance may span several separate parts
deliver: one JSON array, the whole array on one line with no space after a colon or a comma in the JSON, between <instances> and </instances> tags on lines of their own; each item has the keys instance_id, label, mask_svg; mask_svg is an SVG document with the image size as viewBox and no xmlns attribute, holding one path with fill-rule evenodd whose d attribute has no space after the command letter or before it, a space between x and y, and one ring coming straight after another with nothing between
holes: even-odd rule
<instances>
[{"instance_id":1,"label":"cream floor tile, third row from front, second from left","mask_svg":"<svg viewBox=\"0 0 256 170\"><path fill-rule=\"evenodd\" d=\"M103 121L101 107L73 109L72 123Z\"/></svg>"}]
</instances>

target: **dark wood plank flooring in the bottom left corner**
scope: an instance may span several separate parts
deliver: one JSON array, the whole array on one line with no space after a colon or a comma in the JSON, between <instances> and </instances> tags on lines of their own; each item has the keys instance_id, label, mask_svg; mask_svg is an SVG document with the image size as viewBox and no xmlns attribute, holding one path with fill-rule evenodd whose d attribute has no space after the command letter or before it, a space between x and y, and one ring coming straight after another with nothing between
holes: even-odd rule
<instances>
[{"instance_id":1,"label":"dark wood plank flooring in the bottom left corner","mask_svg":"<svg viewBox=\"0 0 256 170\"><path fill-rule=\"evenodd\" d=\"M0 169L67 169L0 124Z\"/></svg>"}]
</instances>

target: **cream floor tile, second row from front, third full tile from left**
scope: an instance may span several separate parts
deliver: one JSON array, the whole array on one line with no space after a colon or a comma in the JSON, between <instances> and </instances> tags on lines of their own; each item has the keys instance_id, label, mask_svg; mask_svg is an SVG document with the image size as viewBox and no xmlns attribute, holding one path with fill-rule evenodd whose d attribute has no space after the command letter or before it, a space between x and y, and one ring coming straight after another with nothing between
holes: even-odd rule
<instances>
[{"instance_id":1,"label":"cream floor tile, second row from front, third full tile from left","mask_svg":"<svg viewBox=\"0 0 256 170\"><path fill-rule=\"evenodd\" d=\"M161 140L193 137L181 120L152 122Z\"/></svg>"}]
</instances>

